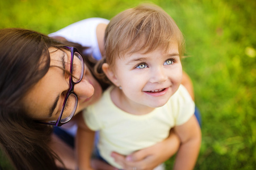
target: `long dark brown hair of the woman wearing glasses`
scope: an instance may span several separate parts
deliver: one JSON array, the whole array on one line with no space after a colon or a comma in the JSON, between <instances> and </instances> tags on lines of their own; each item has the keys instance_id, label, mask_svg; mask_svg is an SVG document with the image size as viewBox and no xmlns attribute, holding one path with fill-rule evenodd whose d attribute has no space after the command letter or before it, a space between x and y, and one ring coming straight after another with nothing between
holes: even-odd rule
<instances>
[{"instance_id":1,"label":"long dark brown hair of the woman wearing glasses","mask_svg":"<svg viewBox=\"0 0 256 170\"><path fill-rule=\"evenodd\" d=\"M51 46L61 43L27 29L0 29L0 146L16 169L58 169L55 160L61 162L48 146L52 128L34 122L22 103L49 70Z\"/></svg>"}]
</instances>

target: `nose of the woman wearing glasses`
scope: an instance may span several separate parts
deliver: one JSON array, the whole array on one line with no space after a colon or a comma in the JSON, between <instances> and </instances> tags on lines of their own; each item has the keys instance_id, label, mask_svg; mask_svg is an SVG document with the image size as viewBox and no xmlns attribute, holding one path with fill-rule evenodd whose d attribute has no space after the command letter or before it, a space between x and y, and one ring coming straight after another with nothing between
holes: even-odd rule
<instances>
[{"instance_id":1,"label":"nose of the woman wearing glasses","mask_svg":"<svg viewBox=\"0 0 256 170\"><path fill-rule=\"evenodd\" d=\"M94 94L94 87L90 82L82 79L81 82L75 84L74 92L79 98L86 99Z\"/></svg>"}]
</instances>

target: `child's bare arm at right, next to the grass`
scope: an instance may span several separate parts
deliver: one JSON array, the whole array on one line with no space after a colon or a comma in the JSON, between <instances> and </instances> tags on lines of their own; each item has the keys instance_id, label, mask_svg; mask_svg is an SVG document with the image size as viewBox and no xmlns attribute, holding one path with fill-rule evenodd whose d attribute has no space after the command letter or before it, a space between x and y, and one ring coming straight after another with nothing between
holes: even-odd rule
<instances>
[{"instance_id":1,"label":"child's bare arm at right, next to the grass","mask_svg":"<svg viewBox=\"0 0 256 170\"><path fill-rule=\"evenodd\" d=\"M201 145L201 129L195 115L185 124L175 126L174 130L181 139L174 169L193 169Z\"/></svg>"}]
</instances>

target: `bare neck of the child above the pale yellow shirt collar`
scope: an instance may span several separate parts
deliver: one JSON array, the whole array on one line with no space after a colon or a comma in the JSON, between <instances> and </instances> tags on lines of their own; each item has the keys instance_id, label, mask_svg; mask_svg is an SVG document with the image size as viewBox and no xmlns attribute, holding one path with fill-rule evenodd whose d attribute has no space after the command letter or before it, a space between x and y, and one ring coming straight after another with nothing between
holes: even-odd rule
<instances>
[{"instance_id":1,"label":"bare neck of the child above the pale yellow shirt collar","mask_svg":"<svg viewBox=\"0 0 256 170\"><path fill-rule=\"evenodd\" d=\"M130 114L148 114L155 109L129 100L118 87L112 89L110 96L116 107Z\"/></svg>"}]
</instances>

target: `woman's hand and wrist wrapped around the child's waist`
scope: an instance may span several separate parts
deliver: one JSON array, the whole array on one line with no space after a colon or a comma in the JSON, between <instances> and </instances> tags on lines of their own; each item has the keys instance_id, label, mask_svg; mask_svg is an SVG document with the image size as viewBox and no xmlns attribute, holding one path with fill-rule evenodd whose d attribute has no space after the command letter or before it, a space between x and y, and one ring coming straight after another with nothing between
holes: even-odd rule
<instances>
[{"instance_id":1,"label":"woman's hand and wrist wrapped around the child's waist","mask_svg":"<svg viewBox=\"0 0 256 170\"><path fill-rule=\"evenodd\" d=\"M128 156L112 152L115 162L123 166L123 169L154 169L178 151L180 141L178 136L170 131L170 135L164 141L156 145L133 152Z\"/></svg>"}]
</instances>

